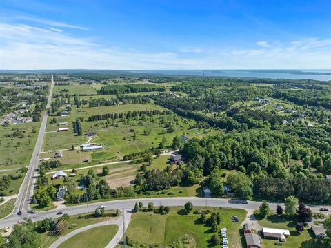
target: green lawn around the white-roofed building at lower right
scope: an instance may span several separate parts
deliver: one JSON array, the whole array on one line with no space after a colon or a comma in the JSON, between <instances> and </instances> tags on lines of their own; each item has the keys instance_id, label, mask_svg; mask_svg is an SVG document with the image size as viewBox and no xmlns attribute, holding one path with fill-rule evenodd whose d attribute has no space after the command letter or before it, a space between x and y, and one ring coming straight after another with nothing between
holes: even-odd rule
<instances>
[{"instance_id":1,"label":"green lawn around the white-roofed building at lower right","mask_svg":"<svg viewBox=\"0 0 331 248\"><path fill-rule=\"evenodd\" d=\"M286 216L277 216L277 213L274 211L263 219L260 218L257 213L255 213L255 216L259 222L259 225L263 227L288 229L290 231L290 237L286 238L286 242L283 242L281 247L302 247L304 243L308 243L312 240L310 231L307 228L301 233L295 230L295 225L297 223L297 218L295 217L287 218ZM265 248L279 247L275 245L276 242L277 240L262 238L263 247Z\"/></svg>"}]
</instances>

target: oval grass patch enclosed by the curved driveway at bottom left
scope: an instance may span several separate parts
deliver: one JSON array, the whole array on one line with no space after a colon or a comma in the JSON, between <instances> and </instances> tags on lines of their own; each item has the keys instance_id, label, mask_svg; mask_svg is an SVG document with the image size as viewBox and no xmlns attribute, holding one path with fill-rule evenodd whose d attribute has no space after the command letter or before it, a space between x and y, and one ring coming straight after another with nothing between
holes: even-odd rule
<instances>
[{"instance_id":1,"label":"oval grass patch enclosed by the curved driveway at bottom left","mask_svg":"<svg viewBox=\"0 0 331 248\"><path fill-rule=\"evenodd\" d=\"M66 242L59 245L59 248L80 247L80 248L103 248L114 238L119 227L117 225L106 225L95 227L72 236Z\"/></svg>"}]
</instances>

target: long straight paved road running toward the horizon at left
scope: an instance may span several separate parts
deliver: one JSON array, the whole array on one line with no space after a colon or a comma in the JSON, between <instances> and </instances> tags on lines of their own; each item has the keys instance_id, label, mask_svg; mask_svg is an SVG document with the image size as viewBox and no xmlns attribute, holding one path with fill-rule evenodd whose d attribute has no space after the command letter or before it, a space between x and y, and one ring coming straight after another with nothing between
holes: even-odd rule
<instances>
[{"instance_id":1,"label":"long straight paved road running toward the horizon at left","mask_svg":"<svg viewBox=\"0 0 331 248\"><path fill-rule=\"evenodd\" d=\"M33 193L33 185L36 180L35 174L38 168L39 154L41 153L41 147L43 146L43 135L45 134L45 130L46 130L47 116L48 116L48 110L50 109L50 102L52 100L53 87L54 87L54 80L52 75L52 82L50 84L50 93L48 95L46 111L43 114L43 120L41 121L41 126L39 128L37 142L34 145L34 150L28 167L28 172L26 173L23 183L19 188L19 195L14 207L14 213L17 213L17 211L19 210L21 210L22 213L27 213L27 211L29 210L29 200L30 200L30 195L32 195Z\"/></svg>"}]
</instances>

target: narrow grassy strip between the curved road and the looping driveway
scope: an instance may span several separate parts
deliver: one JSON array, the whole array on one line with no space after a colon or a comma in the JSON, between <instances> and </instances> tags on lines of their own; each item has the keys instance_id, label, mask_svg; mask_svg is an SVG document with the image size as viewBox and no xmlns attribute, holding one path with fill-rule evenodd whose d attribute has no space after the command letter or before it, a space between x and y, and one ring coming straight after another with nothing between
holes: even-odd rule
<instances>
[{"instance_id":1,"label":"narrow grassy strip between the curved road and the looping driveway","mask_svg":"<svg viewBox=\"0 0 331 248\"><path fill-rule=\"evenodd\" d=\"M112 213L112 214L114 214L114 212L115 211L106 211L106 213ZM90 215L93 215L93 213L90 213ZM95 224L98 222L104 222L106 220L112 220L114 218L114 217L84 218L84 216L87 216L87 214L70 216L70 218L68 220L68 225L64 229L64 231L61 235L63 236L63 235L66 235L67 233L70 233L71 231L74 231L81 227L92 225L92 224ZM51 236L50 232L39 233L39 236L41 238L41 244L42 244L41 247L42 248L49 247L53 242L55 242L60 237L60 236Z\"/></svg>"}]
</instances>

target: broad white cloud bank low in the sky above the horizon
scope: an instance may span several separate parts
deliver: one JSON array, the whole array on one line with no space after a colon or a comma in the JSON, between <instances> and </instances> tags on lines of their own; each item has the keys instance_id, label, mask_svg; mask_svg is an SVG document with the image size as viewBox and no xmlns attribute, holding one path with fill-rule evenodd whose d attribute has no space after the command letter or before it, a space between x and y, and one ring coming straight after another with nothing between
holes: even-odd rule
<instances>
[{"instance_id":1,"label":"broad white cloud bank low in the sky above the horizon","mask_svg":"<svg viewBox=\"0 0 331 248\"><path fill-rule=\"evenodd\" d=\"M59 32L59 28L23 24L0 23L0 37L0 69L331 68L330 39L273 41L272 46L259 49L232 47L206 52L191 48L177 54L106 48L93 39Z\"/></svg>"}]
</instances>

